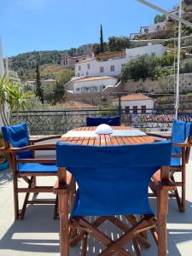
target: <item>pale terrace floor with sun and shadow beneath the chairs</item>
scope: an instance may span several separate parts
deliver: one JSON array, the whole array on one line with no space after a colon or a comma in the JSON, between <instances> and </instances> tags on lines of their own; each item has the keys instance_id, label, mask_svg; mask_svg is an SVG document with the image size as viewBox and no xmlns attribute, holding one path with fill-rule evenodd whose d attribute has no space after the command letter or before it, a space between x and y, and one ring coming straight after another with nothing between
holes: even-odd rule
<instances>
[{"instance_id":1,"label":"pale terrace floor with sun and shadow beneath the chairs","mask_svg":"<svg viewBox=\"0 0 192 256\"><path fill-rule=\"evenodd\" d=\"M40 183L54 183L41 179ZM170 200L168 214L169 255L192 255L192 161L187 168L187 211L180 213L175 200ZM54 196L54 195L49 195ZM151 200L155 208L155 201ZM12 176L8 171L0 172L0 256L59 256L59 220L54 220L53 206L30 206L26 218L14 221ZM109 236L117 238L119 230L113 226L102 227ZM148 236L152 247L143 249L143 256L157 255L154 241ZM101 245L89 240L88 256L97 255ZM79 245L70 255L79 255Z\"/></svg>"}]
</instances>

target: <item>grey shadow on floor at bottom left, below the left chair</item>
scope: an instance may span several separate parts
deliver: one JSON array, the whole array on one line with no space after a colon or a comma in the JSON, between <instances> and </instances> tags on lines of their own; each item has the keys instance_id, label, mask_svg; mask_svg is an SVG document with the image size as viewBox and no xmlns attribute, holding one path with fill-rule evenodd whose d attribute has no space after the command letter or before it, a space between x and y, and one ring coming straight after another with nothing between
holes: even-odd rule
<instances>
[{"instance_id":1,"label":"grey shadow on floor at bottom left, below the left chair","mask_svg":"<svg viewBox=\"0 0 192 256\"><path fill-rule=\"evenodd\" d=\"M29 206L26 218L16 220L0 241L0 248L15 251L58 253L59 220L54 206ZM27 254L27 255L28 255Z\"/></svg>"}]
</instances>

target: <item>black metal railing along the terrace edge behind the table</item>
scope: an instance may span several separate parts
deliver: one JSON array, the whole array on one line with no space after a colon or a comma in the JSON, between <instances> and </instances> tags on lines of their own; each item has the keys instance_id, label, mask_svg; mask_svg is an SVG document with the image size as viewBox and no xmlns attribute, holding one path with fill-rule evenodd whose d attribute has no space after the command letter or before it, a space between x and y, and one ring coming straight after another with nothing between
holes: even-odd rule
<instances>
[{"instance_id":1,"label":"black metal railing along the terrace edge behind the table","mask_svg":"<svg viewBox=\"0 0 192 256\"><path fill-rule=\"evenodd\" d=\"M174 108L163 109L87 109L55 111L20 111L13 113L13 124L26 122L32 135L63 134L73 128L85 126L87 116L118 116L121 125L139 128L143 131L170 131ZM192 121L192 108L180 109L178 119Z\"/></svg>"}]
</instances>

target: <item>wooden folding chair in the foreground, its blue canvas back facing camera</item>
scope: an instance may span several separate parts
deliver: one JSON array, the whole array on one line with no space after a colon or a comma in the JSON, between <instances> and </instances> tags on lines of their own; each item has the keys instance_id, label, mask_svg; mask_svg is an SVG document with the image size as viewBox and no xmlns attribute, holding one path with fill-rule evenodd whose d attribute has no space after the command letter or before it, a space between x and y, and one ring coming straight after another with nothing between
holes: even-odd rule
<instances>
[{"instance_id":1,"label":"wooden folding chair in the foreground, its blue canvas back facing camera","mask_svg":"<svg viewBox=\"0 0 192 256\"><path fill-rule=\"evenodd\" d=\"M57 143L59 181L55 185L55 193L59 195L60 202L61 256L68 256L69 244L73 246L78 241L83 243L82 255L85 256L89 234L106 247L99 255L130 256L124 247L132 242L139 256L139 245L150 246L147 230L151 231L158 244L158 255L165 256L167 194L172 189L172 183L166 177L169 173L166 165L170 163L171 148L170 142L106 147ZM156 220L148 205L148 181L160 166L164 166L161 173L163 181L158 190ZM67 171L79 185L70 219ZM142 214L142 218L138 220L135 214ZM129 225L116 215L124 215ZM90 223L86 216L98 218ZM123 230L123 236L113 241L98 230L106 220Z\"/></svg>"}]
</instances>

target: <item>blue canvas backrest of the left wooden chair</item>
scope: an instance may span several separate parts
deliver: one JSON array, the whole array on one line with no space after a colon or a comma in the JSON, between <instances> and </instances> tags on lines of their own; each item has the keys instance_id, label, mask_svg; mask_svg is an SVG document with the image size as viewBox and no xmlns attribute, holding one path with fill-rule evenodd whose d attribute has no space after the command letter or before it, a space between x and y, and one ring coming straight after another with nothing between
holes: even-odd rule
<instances>
[{"instance_id":1,"label":"blue canvas backrest of the left wooden chair","mask_svg":"<svg viewBox=\"0 0 192 256\"><path fill-rule=\"evenodd\" d=\"M3 126L3 140L10 143L14 148L22 148L29 145L29 133L26 123L20 125ZM20 159L32 158L32 152L26 150L17 154Z\"/></svg>"}]
</instances>

